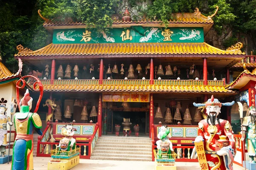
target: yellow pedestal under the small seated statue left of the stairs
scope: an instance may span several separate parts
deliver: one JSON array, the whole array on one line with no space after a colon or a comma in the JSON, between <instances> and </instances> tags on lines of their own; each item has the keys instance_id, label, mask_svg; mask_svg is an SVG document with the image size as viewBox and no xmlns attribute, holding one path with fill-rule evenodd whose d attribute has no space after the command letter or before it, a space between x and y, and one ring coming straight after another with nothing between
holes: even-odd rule
<instances>
[{"instance_id":1,"label":"yellow pedestal under the small seated statue left of the stairs","mask_svg":"<svg viewBox=\"0 0 256 170\"><path fill-rule=\"evenodd\" d=\"M48 162L48 170L70 170L79 164L79 155L69 159L59 159L60 162Z\"/></svg>"}]
</instances>

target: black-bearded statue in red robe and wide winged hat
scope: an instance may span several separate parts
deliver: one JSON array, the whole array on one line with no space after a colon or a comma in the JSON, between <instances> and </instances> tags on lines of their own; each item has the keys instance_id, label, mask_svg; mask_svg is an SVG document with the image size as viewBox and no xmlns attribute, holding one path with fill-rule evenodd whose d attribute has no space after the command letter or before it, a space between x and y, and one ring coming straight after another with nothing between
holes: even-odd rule
<instances>
[{"instance_id":1,"label":"black-bearded statue in red robe and wide winged hat","mask_svg":"<svg viewBox=\"0 0 256 170\"><path fill-rule=\"evenodd\" d=\"M213 95L205 104L193 103L195 107L205 106L207 111L207 119L198 123L198 136L195 138L197 143L203 141L205 154L197 155L194 147L191 156L192 159L196 157L206 159L205 169L208 166L209 170L233 170L233 160L236 153L233 131L230 122L219 117L221 106L231 106L234 103L234 101L221 103L218 99L214 99Z\"/></svg>"}]
</instances>

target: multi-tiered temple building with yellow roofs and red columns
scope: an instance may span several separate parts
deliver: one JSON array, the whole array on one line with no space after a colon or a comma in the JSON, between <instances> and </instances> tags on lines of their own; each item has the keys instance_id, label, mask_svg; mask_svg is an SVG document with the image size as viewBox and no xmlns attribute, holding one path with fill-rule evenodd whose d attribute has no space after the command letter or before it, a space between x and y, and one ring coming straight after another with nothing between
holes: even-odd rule
<instances>
[{"instance_id":1,"label":"multi-tiered temple building with yellow roofs and red columns","mask_svg":"<svg viewBox=\"0 0 256 170\"><path fill-rule=\"evenodd\" d=\"M198 9L175 13L165 27L157 20L133 21L125 9L122 20L115 19L108 32L89 30L83 23L55 23L38 12L44 28L52 33L52 43L36 51L18 45L15 59L22 59L31 68L29 74L41 79L42 101L55 102L54 113L41 106L38 114L52 121L49 133L56 141L61 139L58 124L75 120L78 143L88 142L95 126L90 129L92 121L97 122L99 137L116 134L117 127L127 135L122 122L131 122L131 135L154 139L159 124L169 125L173 145L192 145L197 124L205 117L204 108L195 108L193 102L206 102L214 95L221 102L237 99L255 104L239 98L248 89L247 96L255 94L251 92L255 74L242 68L248 58L241 51L243 45L238 42L221 50L204 42L217 11L208 17ZM254 63L254 57L249 58ZM241 68L242 74L231 77L234 68ZM36 98L34 81L28 79L27 87ZM232 122L230 107L221 109L221 119ZM49 139L48 134L43 142ZM42 148L38 153L46 152L44 144Z\"/></svg>"}]
</instances>

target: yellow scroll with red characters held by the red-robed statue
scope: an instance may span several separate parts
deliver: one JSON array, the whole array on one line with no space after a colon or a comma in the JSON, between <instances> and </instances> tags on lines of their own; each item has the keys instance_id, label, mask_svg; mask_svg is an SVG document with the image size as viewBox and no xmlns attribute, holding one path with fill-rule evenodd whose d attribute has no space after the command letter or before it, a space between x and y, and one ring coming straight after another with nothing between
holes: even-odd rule
<instances>
[{"instance_id":1,"label":"yellow scroll with red characters held by the red-robed statue","mask_svg":"<svg viewBox=\"0 0 256 170\"><path fill-rule=\"evenodd\" d=\"M195 142L195 150L198 156L198 162L201 170L209 170L205 151L204 151L204 142L201 141L199 143Z\"/></svg>"}]
</instances>

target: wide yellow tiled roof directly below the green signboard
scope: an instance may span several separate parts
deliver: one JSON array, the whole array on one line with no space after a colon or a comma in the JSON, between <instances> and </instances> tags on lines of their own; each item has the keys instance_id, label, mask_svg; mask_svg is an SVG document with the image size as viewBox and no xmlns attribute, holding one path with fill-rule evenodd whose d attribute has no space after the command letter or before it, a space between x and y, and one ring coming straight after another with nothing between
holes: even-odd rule
<instances>
[{"instance_id":1,"label":"wide yellow tiled roof directly below the green signboard","mask_svg":"<svg viewBox=\"0 0 256 170\"><path fill-rule=\"evenodd\" d=\"M241 45L242 47L242 45ZM105 44L49 44L44 48L32 51L17 46L22 56L55 56L55 55L116 55L116 54L236 54L244 55L240 48L221 50L201 43L105 43Z\"/></svg>"}]
</instances>

